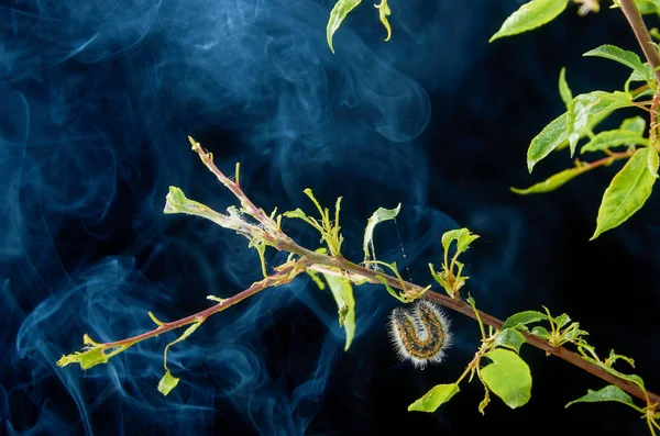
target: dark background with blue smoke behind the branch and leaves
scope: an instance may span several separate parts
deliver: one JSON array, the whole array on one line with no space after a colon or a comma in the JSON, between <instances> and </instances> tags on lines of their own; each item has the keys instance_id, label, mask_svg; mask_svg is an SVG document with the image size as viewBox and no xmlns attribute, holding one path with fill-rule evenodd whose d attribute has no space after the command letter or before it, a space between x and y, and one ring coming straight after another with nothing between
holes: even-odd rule
<instances>
[{"instance_id":1,"label":"dark background with blue smoke behind the branch and leaves","mask_svg":"<svg viewBox=\"0 0 660 436\"><path fill-rule=\"evenodd\" d=\"M508 190L571 165L558 153L530 176L525 163L529 141L563 111L560 68L574 93L620 89L625 67L581 55L638 47L608 4L586 18L570 4L552 24L488 45L519 3L393 1L383 43L365 2L338 32L336 55L324 41L329 1L0 4L0 433L647 434L623 405L564 410L605 383L529 346L525 407L494 399L482 417L473 382L435 414L407 412L455 380L479 329L449 314L446 362L416 370L389 345L397 302L377 287L355 291L348 353L332 298L307 279L213 316L173 347L182 382L167 398L156 384L173 334L87 371L54 365L84 333L119 339L152 328L150 310L175 320L258 279L244 239L162 213L170 185L216 209L232 202L189 150L191 134L227 172L242 163L244 189L266 210L311 211L307 187L326 204L342 195L344 251L355 260L366 217L402 202L376 247L403 265L398 231L405 275L419 283L440 262L442 233L470 227L482 235L465 259L480 308L499 317L541 304L568 312L602 355L632 356L660 389L658 198L587 242L618 166L550 194ZM318 243L293 220L285 230Z\"/></svg>"}]
</instances>

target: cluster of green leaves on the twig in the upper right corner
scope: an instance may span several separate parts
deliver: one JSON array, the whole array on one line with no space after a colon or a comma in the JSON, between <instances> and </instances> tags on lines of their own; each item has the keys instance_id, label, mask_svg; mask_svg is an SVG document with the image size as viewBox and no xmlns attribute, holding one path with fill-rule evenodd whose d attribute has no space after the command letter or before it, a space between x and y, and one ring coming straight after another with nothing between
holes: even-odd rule
<instances>
[{"instance_id":1,"label":"cluster of green leaves on the twig in the upper right corner","mask_svg":"<svg viewBox=\"0 0 660 436\"><path fill-rule=\"evenodd\" d=\"M547 24L568 7L568 0L532 0L521 5L493 35L491 42L505 36L517 35ZM586 2L585 2L586 3ZM644 4L644 13L660 14L657 1L638 1ZM597 2L596 2L597 4ZM615 2L615 7L618 7ZM530 143L527 152L529 172L535 166L553 152L569 148L573 157L578 145L584 139L580 155L597 156L596 160L574 159L574 165L550 178L526 189L512 188L518 194L553 191L578 176L592 169L605 167L618 160L626 160L624 167L614 176L603 194L596 219L596 228L592 239L604 232L615 228L632 216L651 194L658 178L658 150L656 104L658 82L649 63L614 45L603 45L584 54L587 57L601 57L629 68L630 72L620 91L591 91L573 97L562 68L559 75L559 94L566 111L548 124ZM642 82L637 89L630 89L632 82ZM653 100L644 100L656 96ZM595 128L615 111L636 107L649 113L649 131L640 116L625 120L618 128L595 132ZM623 148L623 150L617 150Z\"/></svg>"}]
</instances>

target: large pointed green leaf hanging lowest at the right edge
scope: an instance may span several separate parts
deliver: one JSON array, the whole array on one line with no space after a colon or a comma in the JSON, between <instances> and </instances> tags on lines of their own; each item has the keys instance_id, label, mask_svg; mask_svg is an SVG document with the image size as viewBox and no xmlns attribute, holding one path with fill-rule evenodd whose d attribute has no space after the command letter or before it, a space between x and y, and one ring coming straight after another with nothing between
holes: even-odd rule
<instances>
[{"instance_id":1,"label":"large pointed green leaf hanging lowest at the right edge","mask_svg":"<svg viewBox=\"0 0 660 436\"><path fill-rule=\"evenodd\" d=\"M649 156L656 154L656 158ZM651 172L652 171L652 172ZM595 239L637 212L651 194L658 172L657 152L652 147L639 148L624 168L612 179L598 209Z\"/></svg>"}]
</instances>

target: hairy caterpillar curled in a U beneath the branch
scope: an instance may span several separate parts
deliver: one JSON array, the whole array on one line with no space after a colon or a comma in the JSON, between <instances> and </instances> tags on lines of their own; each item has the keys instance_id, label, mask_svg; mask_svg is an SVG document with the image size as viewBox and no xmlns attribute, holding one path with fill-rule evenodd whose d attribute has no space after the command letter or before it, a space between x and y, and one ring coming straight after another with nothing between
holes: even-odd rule
<instances>
[{"instance_id":1,"label":"hairy caterpillar curled in a U beneath the branch","mask_svg":"<svg viewBox=\"0 0 660 436\"><path fill-rule=\"evenodd\" d=\"M442 361L451 345L449 320L428 300L418 300L410 311L396 308L389 318L389 335L399 358L419 369Z\"/></svg>"}]
</instances>

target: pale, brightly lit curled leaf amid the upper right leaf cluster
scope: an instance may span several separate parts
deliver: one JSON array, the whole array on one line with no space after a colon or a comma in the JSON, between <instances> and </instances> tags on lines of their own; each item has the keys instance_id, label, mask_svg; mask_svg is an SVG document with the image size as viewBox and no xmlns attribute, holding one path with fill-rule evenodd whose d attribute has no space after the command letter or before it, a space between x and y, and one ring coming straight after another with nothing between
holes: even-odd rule
<instances>
[{"instance_id":1,"label":"pale, brightly lit curled leaf amid the upper right leaf cluster","mask_svg":"<svg viewBox=\"0 0 660 436\"><path fill-rule=\"evenodd\" d=\"M571 156L575 153L578 141L590 132L597 123L613 111L632 104L632 97L627 92L593 91L573 99L566 115L566 132L571 147Z\"/></svg>"}]
</instances>

